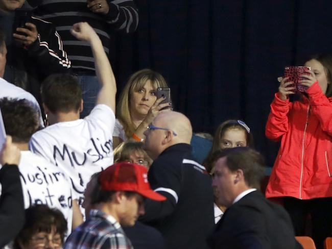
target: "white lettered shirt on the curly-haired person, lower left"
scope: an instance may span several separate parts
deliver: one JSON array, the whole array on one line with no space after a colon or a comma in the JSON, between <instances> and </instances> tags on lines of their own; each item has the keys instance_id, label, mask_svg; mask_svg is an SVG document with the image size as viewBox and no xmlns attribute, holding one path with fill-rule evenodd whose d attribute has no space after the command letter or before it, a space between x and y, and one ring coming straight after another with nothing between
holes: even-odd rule
<instances>
[{"instance_id":1,"label":"white lettered shirt on the curly-haired person, lower left","mask_svg":"<svg viewBox=\"0 0 332 249\"><path fill-rule=\"evenodd\" d=\"M64 172L48 160L30 151L21 151L18 165L23 190L24 208L45 204L59 209L68 223L67 235L72 231L72 185Z\"/></svg>"}]
</instances>

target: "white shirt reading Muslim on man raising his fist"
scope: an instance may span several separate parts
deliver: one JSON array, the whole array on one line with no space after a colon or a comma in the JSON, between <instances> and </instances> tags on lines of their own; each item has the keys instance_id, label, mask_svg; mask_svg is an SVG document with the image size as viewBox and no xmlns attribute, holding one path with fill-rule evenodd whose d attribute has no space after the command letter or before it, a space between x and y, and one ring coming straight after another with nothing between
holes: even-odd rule
<instances>
[{"instance_id":1,"label":"white shirt reading Muslim on man raising his fist","mask_svg":"<svg viewBox=\"0 0 332 249\"><path fill-rule=\"evenodd\" d=\"M70 177L79 205L93 173L113 164L115 115L106 105L97 105L84 119L55 123L36 132L30 150L59 166Z\"/></svg>"}]
</instances>

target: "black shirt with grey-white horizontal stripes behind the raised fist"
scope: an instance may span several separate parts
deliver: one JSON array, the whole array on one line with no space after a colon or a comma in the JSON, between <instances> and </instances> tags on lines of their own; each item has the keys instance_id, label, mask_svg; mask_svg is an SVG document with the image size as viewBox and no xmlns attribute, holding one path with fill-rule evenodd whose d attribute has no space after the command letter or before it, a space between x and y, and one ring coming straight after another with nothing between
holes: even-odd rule
<instances>
[{"instance_id":1,"label":"black shirt with grey-white horizontal stripes behind the raised fist","mask_svg":"<svg viewBox=\"0 0 332 249\"><path fill-rule=\"evenodd\" d=\"M86 0L43 0L38 6L38 15L56 26L74 70L94 70L94 58L89 44L78 41L70 34L73 24L88 22L99 35L107 54L112 32L121 30L131 33L136 30L138 10L133 0L113 0L108 4L107 15L91 12Z\"/></svg>"}]
</instances>

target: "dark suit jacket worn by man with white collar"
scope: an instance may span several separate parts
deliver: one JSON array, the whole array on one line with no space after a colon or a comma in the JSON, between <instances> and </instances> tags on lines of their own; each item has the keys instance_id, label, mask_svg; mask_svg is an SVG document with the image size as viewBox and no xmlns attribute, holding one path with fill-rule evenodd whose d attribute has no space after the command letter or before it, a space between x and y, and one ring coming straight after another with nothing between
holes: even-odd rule
<instances>
[{"instance_id":1,"label":"dark suit jacket worn by man with white collar","mask_svg":"<svg viewBox=\"0 0 332 249\"><path fill-rule=\"evenodd\" d=\"M253 191L226 210L209 245L216 249L301 248L294 236L286 210Z\"/></svg>"}]
</instances>

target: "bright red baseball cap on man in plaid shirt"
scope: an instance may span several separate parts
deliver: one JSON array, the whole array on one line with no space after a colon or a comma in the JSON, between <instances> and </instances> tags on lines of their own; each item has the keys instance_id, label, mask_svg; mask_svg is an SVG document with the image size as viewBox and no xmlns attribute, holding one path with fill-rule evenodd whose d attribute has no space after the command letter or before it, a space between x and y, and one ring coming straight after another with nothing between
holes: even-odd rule
<instances>
[{"instance_id":1,"label":"bright red baseball cap on man in plaid shirt","mask_svg":"<svg viewBox=\"0 0 332 249\"><path fill-rule=\"evenodd\" d=\"M138 164L114 163L100 173L99 182L105 191L132 191L154 201L166 200L166 197L151 189L148 170Z\"/></svg>"}]
</instances>

